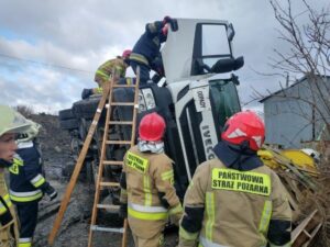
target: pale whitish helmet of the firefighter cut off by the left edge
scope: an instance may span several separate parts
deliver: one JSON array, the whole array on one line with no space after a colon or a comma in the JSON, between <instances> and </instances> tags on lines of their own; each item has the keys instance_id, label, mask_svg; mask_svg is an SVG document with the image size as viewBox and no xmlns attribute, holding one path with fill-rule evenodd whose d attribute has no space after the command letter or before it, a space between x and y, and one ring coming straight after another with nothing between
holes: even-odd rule
<instances>
[{"instance_id":1,"label":"pale whitish helmet of the firefighter cut off by the left edge","mask_svg":"<svg viewBox=\"0 0 330 247\"><path fill-rule=\"evenodd\" d=\"M30 122L10 106L0 105L0 136L6 133L22 133L30 126Z\"/></svg>"}]
</instances>

